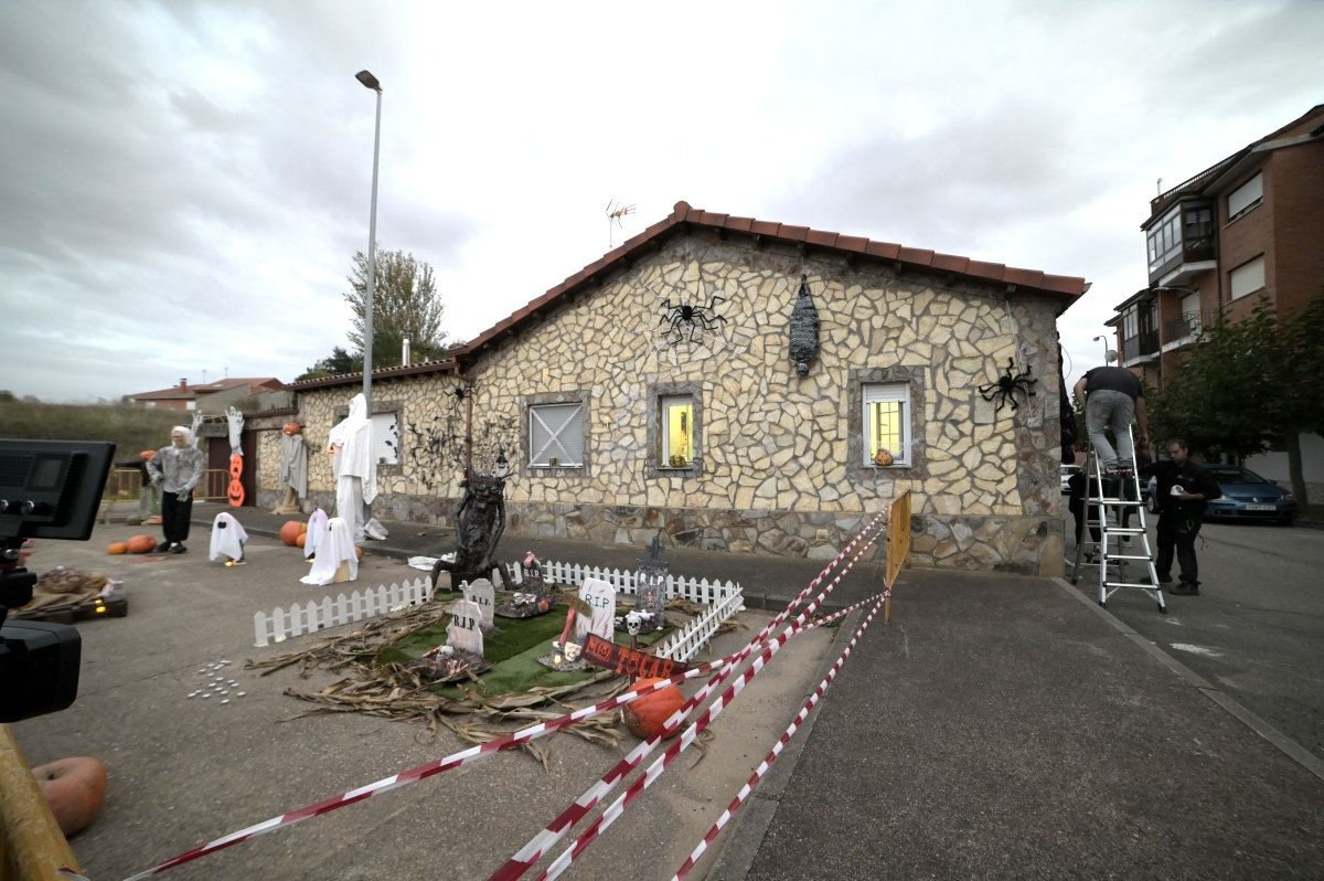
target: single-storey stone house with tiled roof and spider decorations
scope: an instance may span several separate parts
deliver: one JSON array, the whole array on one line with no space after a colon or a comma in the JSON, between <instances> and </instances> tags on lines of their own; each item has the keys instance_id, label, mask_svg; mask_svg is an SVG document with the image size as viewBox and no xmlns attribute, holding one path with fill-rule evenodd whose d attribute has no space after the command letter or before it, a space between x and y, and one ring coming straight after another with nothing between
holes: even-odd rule
<instances>
[{"instance_id":1,"label":"single-storey stone house with tiled roof and spider decorations","mask_svg":"<svg viewBox=\"0 0 1324 881\"><path fill-rule=\"evenodd\" d=\"M373 511L448 522L467 445L508 460L507 537L830 558L910 490L912 563L1061 574L1057 317L1087 287L682 201L448 360L373 371ZM1009 366L1038 380L1017 408L980 392ZM361 383L287 386L327 510L319 452Z\"/></svg>"}]
</instances>

